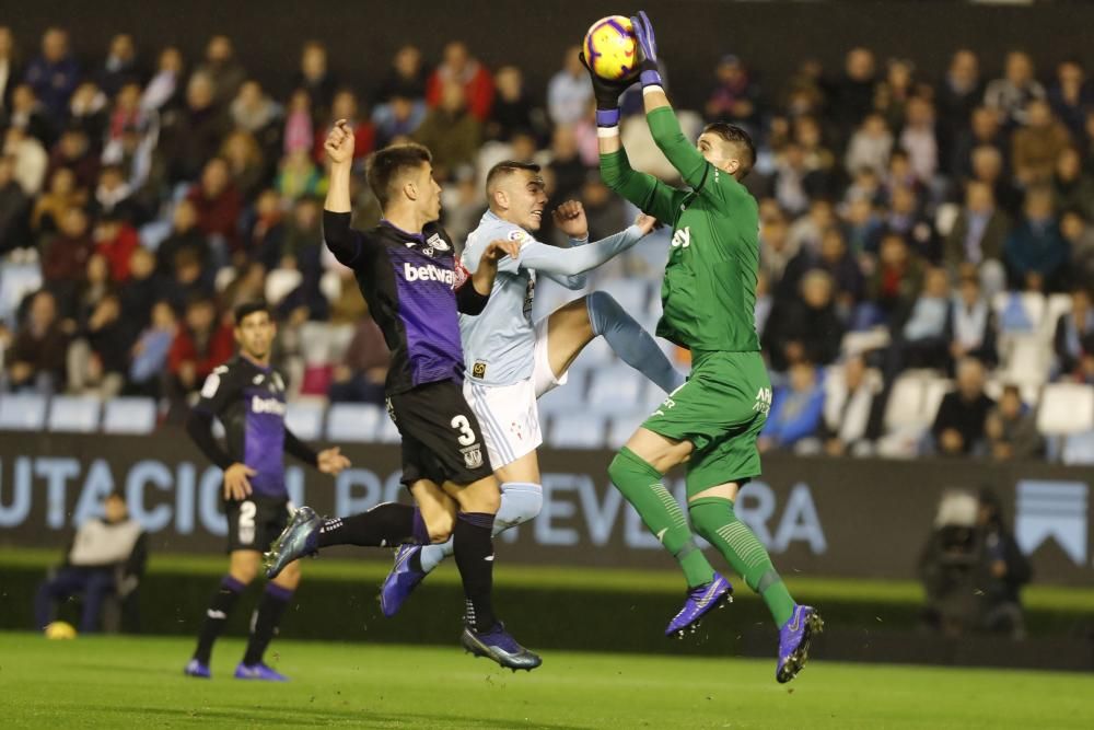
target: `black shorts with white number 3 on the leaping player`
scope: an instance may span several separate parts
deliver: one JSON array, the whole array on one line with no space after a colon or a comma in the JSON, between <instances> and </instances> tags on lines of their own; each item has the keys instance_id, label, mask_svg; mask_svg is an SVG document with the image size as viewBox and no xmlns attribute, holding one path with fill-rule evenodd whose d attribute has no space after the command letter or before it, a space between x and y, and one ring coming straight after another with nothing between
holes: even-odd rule
<instances>
[{"instance_id":1,"label":"black shorts with white number 3 on the leaping player","mask_svg":"<svg viewBox=\"0 0 1094 730\"><path fill-rule=\"evenodd\" d=\"M403 484L472 484L490 476L482 431L463 389L451 380L387 397L387 414L403 436Z\"/></svg>"}]
</instances>

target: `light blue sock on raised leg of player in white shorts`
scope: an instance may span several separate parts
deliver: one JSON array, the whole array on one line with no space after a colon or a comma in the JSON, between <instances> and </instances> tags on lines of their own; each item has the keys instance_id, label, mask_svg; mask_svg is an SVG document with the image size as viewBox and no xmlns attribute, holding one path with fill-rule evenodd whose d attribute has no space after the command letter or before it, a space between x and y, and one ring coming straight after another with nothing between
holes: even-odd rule
<instances>
[{"instance_id":1,"label":"light blue sock on raised leg of player in white shorts","mask_svg":"<svg viewBox=\"0 0 1094 730\"><path fill-rule=\"evenodd\" d=\"M612 294L594 291L585 298L589 322L594 335L604 339L619 358L635 370L672 393L684 384L685 376L673 367L650 333L627 314Z\"/></svg>"}]
</instances>

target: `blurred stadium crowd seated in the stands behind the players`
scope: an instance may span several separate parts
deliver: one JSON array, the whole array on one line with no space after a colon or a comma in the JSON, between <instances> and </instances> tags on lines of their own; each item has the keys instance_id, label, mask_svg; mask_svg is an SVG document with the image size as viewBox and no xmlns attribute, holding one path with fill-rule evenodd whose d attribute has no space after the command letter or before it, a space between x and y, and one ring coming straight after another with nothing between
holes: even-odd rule
<instances>
[{"instance_id":1,"label":"blurred stadium crowd seated in the stands behind the players","mask_svg":"<svg viewBox=\"0 0 1094 730\"><path fill-rule=\"evenodd\" d=\"M142 395L178 419L232 354L233 306L265 298L295 394L381 402L382 337L322 242L335 119L356 136L358 227L380 215L364 158L407 139L433 152L456 240L503 159L543 164L555 201L584 202L593 237L633 215L600 182L577 48L540 95L519 67L487 68L459 42L439 59L405 46L379 86L356 89L307 42L293 91L274 99L228 37L201 58L139 40L119 34L105 56L78 59L65 30L32 50L0 27L2 392ZM691 131L732 121L759 149L746 184L761 219L757 327L776 373L763 447L1052 456L1044 384L1094 385L1082 63L962 49L929 79L911 59L854 48L842 68L803 62L782 88L761 88L760 71L726 55L706 99L675 103L693 109ZM636 166L671 178L637 91L624 109ZM595 287L637 281L648 306L664 248L645 248ZM648 326L657 306L642 312ZM1092 461L1086 443L1079 457Z\"/></svg>"}]
</instances>

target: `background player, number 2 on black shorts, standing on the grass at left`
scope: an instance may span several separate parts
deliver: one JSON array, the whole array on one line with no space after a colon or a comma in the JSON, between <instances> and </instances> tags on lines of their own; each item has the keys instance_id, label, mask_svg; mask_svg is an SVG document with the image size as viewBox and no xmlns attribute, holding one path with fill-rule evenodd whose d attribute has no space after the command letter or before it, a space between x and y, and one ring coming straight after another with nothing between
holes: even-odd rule
<instances>
[{"instance_id":1,"label":"background player, number 2 on black shorts, standing on the grass at left","mask_svg":"<svg viewBox=\"0 0 1094 730\"><path fill-rule=\"evenodd\" d=\"M291 515L284 485L284 453L324 474L349 466L337 448L316 453L284 425L284 376L270 366L277 325L261 303L235 310L235 341L240 354L206 379L201 399L190 413L186 430L209 461L224 470L224 514L228 518L229 571L206 611L194 657L186 674L209 679L209 658L243 589L258 573L261 554L284 529ZM226 449L212 434L212 419L224 426ZM293 591L300 566L292 564L266 584L252 622L251 640L235 669L237 680L283 682L286 677L263 661Z\"/></svg>"}]
</instances>

